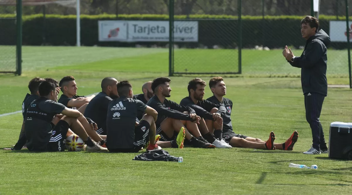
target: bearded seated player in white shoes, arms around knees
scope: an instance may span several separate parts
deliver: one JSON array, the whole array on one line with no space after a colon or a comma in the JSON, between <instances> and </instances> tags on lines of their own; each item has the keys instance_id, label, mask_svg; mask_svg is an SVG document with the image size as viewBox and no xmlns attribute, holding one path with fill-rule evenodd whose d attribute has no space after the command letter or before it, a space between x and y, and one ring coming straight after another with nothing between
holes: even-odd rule
<instances>
[{"instance_id":1,"label":"bearded seated player in white shoes, arms around knees","mask_svg":"<svg viewBox=\"0 0 352 195\"><path fill-rule=\"evenodd\" d=\"M203 99L205 86L206 82L202 79L195 78L190 80L188 83L188 97L183 98L180 105L191 107L201 117L198 128L204 138L200 136L199 139L203 141L206 139L208 142L213 143L216 148L232 148L222 139L221 116L225 114L226 109L222 105L216 105Z\"/></svg>"}]
</instances>

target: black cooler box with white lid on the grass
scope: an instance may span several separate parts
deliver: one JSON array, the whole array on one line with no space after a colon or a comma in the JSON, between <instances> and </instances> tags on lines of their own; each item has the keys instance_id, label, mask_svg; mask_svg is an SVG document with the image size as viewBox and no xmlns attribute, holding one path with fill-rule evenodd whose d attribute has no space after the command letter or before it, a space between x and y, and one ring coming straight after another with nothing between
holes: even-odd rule
<instances>
[{"instance_id":1,"label":"black cooler box with white lid on the grass","mask_svg":"<svg viewBox=\"0 0 352 195\"><path fill-rule=\"evenodd\" d=\"M330 124L329 158L352 160L352 123Z\"/></svg>"}]
</instances>

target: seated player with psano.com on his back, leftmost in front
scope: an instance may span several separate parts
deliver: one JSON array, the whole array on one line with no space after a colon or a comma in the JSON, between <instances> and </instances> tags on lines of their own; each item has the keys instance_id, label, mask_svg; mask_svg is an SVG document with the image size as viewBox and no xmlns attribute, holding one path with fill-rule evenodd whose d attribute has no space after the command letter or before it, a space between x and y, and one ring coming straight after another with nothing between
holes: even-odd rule
<instances>
[{"instance_id":1,"label":"seated player with psano.com on his back, leftmost in front","mask_svg":"<svg viewBox=\"0 0 352 195\"><path fill-rule=\"evenodd\" d=\"M40 97L33 102L26 111L25 137L27 148L36 152L61 152L65 150L65 138L69 127L87 144L87 151L107 150L92 141L89 133L94 132L94 122L87 119L78 111L57 103L57 90L55 83L43 81L39 85ZM61 120L54 126L52 120L55 115L63 114ZM99 135L98 135L99 136ZM6 148L9 149L9 148ZM14 148L12 148L14 149ZM19 148L20 149L20 148Z\"/></svg>"}]
</instances>

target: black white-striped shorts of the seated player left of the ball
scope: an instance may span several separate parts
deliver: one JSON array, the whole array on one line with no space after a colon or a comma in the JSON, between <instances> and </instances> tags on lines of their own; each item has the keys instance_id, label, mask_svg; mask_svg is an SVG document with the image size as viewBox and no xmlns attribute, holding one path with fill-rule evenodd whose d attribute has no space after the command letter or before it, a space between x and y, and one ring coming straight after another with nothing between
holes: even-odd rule
<instances>
[{"instance_id":1,"label":"black white-striped shorts of the seated player left of the ball","mask_svg":"<svg viewBox=\"0 0 352 195\"><path fill-rule=\"evenodd\" d=\"M52 128L50 141L48 144L49 152L63 152L66 147L66 134L68 132L69 125L64 120L59 120L56 125Z\"/></svg>"}]
</instances>

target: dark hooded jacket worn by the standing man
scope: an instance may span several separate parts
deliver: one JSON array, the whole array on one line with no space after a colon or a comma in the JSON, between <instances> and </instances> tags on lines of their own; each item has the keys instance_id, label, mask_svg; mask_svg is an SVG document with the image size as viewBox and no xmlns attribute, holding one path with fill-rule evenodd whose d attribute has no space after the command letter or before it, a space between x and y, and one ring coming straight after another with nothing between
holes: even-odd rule
<instances>
[{"instance_id":1,"label":"dark hooded jacket worn by the standing man","mask_svg":"<svg viewBox=\"0 0 352 195\"><path fill-rule=\"evenodd\" d=\"M291 66L301 69L303 94L320 93L327 96L328 83L326 80L326 47L330 44L329 35L320 30L311 36L300 57L296 57Z\"/></svg>"}]
</instances>

